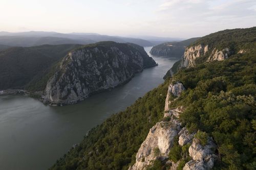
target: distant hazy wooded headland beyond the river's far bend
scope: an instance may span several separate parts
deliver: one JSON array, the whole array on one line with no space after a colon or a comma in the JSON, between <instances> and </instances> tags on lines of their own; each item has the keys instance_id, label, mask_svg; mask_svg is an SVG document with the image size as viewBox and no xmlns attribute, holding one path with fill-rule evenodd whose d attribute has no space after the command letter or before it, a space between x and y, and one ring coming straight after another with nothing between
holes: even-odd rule
<instances>
[{"instance_id":1,"label":"distant hazy wooded headland beyond the river's far bend","mask_svg":"<svg viewBox=\"0 0 256 170\"><path fill-rule=\"evenodd\" d=\"M174 57L181 58L184 54L186 46L198 40L199 38L190 38L184 41L179 42L165 42L159 45L154 46L150 54L155 56L165 56L165 57Z\"/></svg>"}]
</instances>

